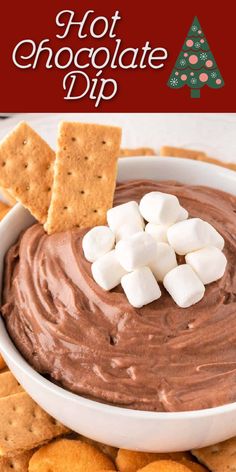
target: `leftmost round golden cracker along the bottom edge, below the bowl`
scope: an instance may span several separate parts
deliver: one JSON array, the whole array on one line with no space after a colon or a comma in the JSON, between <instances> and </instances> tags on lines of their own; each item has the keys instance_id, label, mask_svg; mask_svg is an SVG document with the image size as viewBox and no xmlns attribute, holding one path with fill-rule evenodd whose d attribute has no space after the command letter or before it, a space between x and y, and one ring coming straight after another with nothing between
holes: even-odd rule
<instances>
[{"instance_id":1,"label":"leftmost round golden cracker along the bottom edge, below the bowl","mask_svg":"<svg viewBox=\"0 0 236 472\"><path fill-rule=\"evenodd\" d=\"M59 439L41 447L29 462L29 472L112 471L112 461L91 444L75 439Z\"/></svg>"}]
</instances>

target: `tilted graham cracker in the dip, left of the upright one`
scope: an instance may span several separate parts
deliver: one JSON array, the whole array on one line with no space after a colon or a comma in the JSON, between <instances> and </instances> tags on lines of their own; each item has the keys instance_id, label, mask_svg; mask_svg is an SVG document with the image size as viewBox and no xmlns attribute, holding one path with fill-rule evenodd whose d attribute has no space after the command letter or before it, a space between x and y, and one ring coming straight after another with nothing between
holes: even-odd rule
<instances>
[{"instance_id":1,"label":"tilted graham cracker in the dip, left of the upright one","mask_svg":"<svg viewBox=\"0 0 236 472\"><path fill-rule=\"evenodd\" d=\"M25 122L0 142L0 186L41 223L47 219L54 160L54 151Z\"/></svg>"}]
</instances>

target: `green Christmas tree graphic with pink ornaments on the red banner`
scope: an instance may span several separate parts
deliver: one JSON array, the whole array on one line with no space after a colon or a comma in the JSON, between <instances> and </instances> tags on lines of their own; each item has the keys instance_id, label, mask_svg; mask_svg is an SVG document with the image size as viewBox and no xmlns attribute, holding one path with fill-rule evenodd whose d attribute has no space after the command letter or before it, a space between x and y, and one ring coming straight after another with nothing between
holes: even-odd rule
<instances>
[{"instance_id":1,"label":"green Christmas tree graphic with pink ornaments on the red banner","mask_svg":"<svg viewBox=\"0 0 236 472\"><path fill-rule=\"evenodd\" d=\"M167 85L173 89L188 85L192 98L200 97L200 89L204 85L214 89L224 86L197 17L193 20Z\"/></svg>"}]
</instances>

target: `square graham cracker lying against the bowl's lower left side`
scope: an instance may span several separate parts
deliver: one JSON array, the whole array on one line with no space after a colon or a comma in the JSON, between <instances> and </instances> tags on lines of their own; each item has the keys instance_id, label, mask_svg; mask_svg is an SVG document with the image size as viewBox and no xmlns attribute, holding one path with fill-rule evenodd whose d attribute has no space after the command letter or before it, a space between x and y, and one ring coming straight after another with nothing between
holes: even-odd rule
<instances>
[{"instance_id":1,"label":"square graham cracker lying against the bowl's lower left side","mask_svg":"<svg viewBox=\"0 0 236 472\"><path fill-rule=\"evenodd\" d=\"M0 418L0 457L20 454L68 432L26 392L0 398Z\"/></svg>"}]
</instances>

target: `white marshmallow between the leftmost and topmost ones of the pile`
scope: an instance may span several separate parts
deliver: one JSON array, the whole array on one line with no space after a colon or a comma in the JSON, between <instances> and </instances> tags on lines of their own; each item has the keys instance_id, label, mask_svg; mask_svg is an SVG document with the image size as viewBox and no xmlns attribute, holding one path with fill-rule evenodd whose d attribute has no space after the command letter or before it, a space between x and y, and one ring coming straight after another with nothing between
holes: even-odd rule
<instances>
[{"instance_id":1,"label":"white marshmallow between the leftmost and topmost ones of the pile","mask_svg":"<svg viewBox=\"0 0 236 472\"><path fill-rule=\"evenodd\" d=\"M132 224L144 228L144 221L139 211L137 202L127 202L111 208L107 212L107 222L111 230L116 233L119 228L126 224Z\"/></svg>"}]
</instances>

